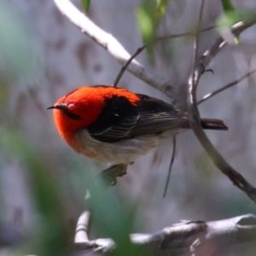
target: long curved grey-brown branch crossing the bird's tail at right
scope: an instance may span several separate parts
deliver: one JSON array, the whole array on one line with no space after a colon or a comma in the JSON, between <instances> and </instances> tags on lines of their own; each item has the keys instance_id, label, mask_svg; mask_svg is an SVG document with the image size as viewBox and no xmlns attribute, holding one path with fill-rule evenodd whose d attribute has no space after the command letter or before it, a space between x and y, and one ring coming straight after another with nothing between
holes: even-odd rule
<instances>
[{"instance_id":1,"label":"long curved grey-brown branch crossing the bird's tail at right","mask_svg":"<svg viewBox=\"0 0 256 256\"><path fill-rule=\"evenodd\" d=\"M250 17L248 20L238 22L235 26L232 26L231 31L237 35L247 29L249 26L253 26L256 23L256 18ZM205 54L195 63L195 71L189 78L189 125L195 133L195 136L200 141L203 148L205 148L207 154L212 159L213 164L230 178L237 188L241 189L256 202L256 189L247 182L247 180L241 176L240 173L230 166L218 153L218 150L214 148L206 133L201 128L200 113L197 108L196 102L196 85L199 83L201 74L205 72L208 63L212 60L213 56L217 55L219 50L224 47L227 42L223 38L218 38L215 44L208 49Z\"/></svg>"}]
</instances>

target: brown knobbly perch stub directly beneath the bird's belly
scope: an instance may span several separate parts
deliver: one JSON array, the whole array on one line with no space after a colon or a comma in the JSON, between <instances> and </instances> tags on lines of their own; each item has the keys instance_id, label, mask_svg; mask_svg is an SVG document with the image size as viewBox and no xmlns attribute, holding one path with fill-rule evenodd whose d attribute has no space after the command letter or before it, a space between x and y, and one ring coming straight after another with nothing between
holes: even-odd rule
<instances>
[{"instance_id":1,"label":"brown knobbly perch stub directly beneath the bird's belly","mask_svg":"<svg viewBox=\"0 0 256 256\"><path fill-rule=\"evenodd\" d=\"M106 170L103 170L100 173L100 176L102 177L105 185L108 186L113 186L116 184L116 178L121 177L125 175L127 169L127 165L115 165L111 166Z\"/></svg>"}]
</instances>

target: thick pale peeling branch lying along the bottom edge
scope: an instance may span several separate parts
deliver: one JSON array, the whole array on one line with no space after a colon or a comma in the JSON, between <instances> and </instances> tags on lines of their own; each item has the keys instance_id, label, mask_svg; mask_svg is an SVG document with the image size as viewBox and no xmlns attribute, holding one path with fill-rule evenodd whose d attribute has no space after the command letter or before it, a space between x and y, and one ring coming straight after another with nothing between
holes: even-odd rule
<instances>
[{"instance_id":1,"label":"thick pale peeling branch lying along the bottom edge","mask_svg":"<svg viewBox=\"0 0 256 256\"><path fill-rule=\"evenodd\" d=\"M152 253L150 255L221 255L227 249L237 252L235 244L241 246L241 254L244 255L255 245L255 237L256 217L247 214L210 222L185 221L152 234L133 234L131 241L148 249L148 253ZM86 250L80 251L79 256L88 255L89 249L90 255L108 254L116 247L109 238L96 239L90 241L90 247L88 245L88 241L84 241L84 247L83 242L79 242L79 250Z\"/></svg>"}]
</instances>

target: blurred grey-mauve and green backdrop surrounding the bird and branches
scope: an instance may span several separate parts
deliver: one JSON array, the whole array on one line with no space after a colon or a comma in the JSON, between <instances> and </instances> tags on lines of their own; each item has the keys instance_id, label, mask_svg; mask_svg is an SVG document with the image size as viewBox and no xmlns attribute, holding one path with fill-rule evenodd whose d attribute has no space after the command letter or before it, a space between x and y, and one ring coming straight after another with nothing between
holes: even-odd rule
<instances>
[{"instance_id":1,"label":"blurred grey-mauve and green backdrop surrounding the bird and branches","mask_svg":"<svg viewBox=\"0 0 256 256\"><path fill-rule=\"evenodd\" d=\"M119 63L61 15L53 1L1 0L0 9L0 255L69 255L88 183L106 166L76 154L55 129L45 108L84 84L113 84ZM79 9L79 0L73 1ZM256 10L254 0L233 0L237 10ZM131 54L143 45L137 25L139 0L94 0L88 16ZM201 1L172 0L157 34L195 29ZM202 27L224 14L220 1L206 1ZM199 54L219 32L201 33ZM193 38L164 40L154 54L137 57L148 70L176 85L177 108L186 109ZM153 57L152 57L153 56ZM198 99L256 68L256 26L226 46L205 73ZM224 119L230 131L207 131L212 143L243 177L256 186L256 75L200 106L201 116ZM170 99L126 72L120 87ZM101 201L92 238L119 236L114 220L129 232L153 232L180 219L215 220L255 213L252 201L212 165L192 131L177 136L172 176L163 198L172 139L129 166L127 175ZM115 206L115 207L113 207ZM114 220L113 220L114 217ZM112 220L111 220L112 219ZM117 222L119 223L119 222ZM116 229L116 230L115 230ZM115 234L115 235L114 235ZM118 234L118 235L117 235ZM50 236L49 236L50 235Z\"/></svg>"}]
</instances>

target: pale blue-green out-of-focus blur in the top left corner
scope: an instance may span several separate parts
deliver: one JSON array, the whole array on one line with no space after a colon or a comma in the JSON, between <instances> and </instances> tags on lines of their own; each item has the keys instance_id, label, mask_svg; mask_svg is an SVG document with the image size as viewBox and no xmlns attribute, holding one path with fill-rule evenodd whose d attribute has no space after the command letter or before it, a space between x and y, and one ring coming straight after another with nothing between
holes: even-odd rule
<instances>
[{"instance_id":1,"label":"pale blue-green out-of-focus blur in the top left corner","mask_svg":"<svg viewBox=\"0 0 256 256\"><path fill-rule=\"evenodd\" d=\"M8 2L0 9L0 76L27 78L34 73L30 33L20 15Z\"/></svg>"}]
</instances>

